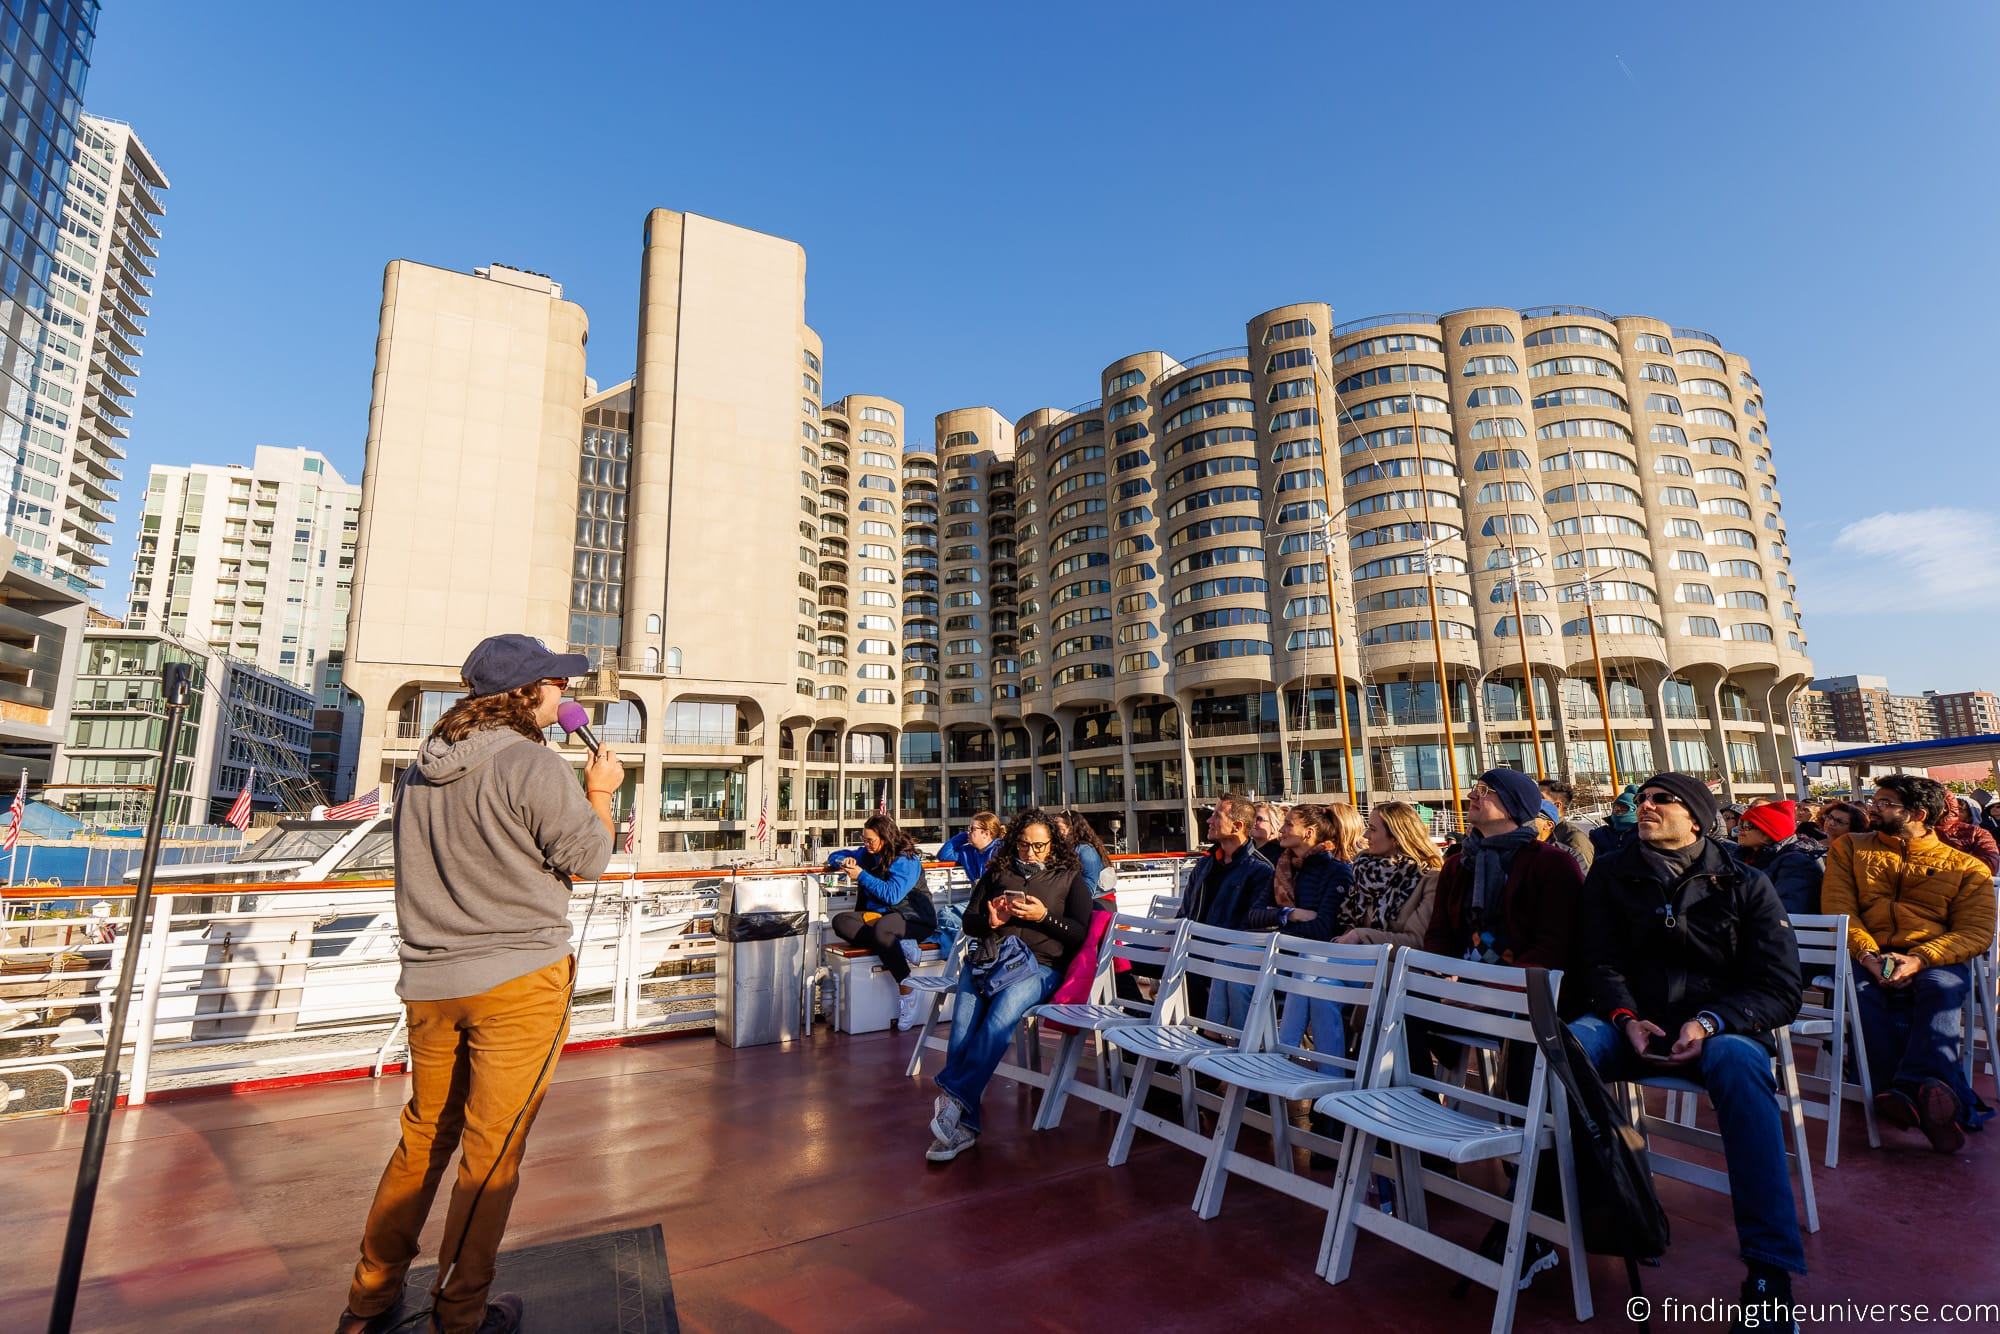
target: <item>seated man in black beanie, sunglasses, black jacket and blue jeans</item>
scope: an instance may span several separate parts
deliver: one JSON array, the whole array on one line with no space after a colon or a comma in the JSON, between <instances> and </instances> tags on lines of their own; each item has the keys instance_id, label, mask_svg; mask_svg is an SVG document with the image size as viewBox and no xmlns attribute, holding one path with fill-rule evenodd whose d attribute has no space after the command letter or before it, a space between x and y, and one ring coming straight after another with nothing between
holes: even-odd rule
<instances>
[{"instance_id":1,"label":"seated man in black beanie, sunglasses, black jacket and blue jeans","mask_svg":"<svg viewBox=\"0 0 2000 1334\"><path fill-rule=\"evenodd\" d=\"M1790 1302L1806 1250L1772 1030L1798 1016L1798 942L1764 872L1704 836L1714 822L1716 798L1700 778L1640 784L1636 836L1584 880L1578 956L1588 960L1590 1014L1570 1030L1606 1080L1670 1074L1708 1090L1750 1266L1742 1298Z\"/></svg>"}]
</instances>

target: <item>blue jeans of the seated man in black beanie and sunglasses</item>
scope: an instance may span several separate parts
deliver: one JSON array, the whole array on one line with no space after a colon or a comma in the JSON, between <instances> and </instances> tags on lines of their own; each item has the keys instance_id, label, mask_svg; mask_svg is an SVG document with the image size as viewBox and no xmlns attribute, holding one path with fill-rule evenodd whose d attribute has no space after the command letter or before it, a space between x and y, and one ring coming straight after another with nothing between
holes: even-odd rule
<instances>
[{"instance_id":1,"label":"blue jeans of the seated man in black beanie and sunglasses","mask_svg":"<svg viewBox=\"0 0 2000 1334\"><path fill-rule=\"evenodd\" d=\"M1570 1032L1606 1082L1668 1074L1642 1062L1624 1034L1594 1014L1570 1024ZM1798 1236L1798 1206L1792 1204L1770 1052L1754 1038L1726 1032L1702 1044L1700 1068L1672 1066L1670 1074L1706 1088L1716 1108L1742 1258L1804 1274L1806 1246Z\"/></svg>"}]
</instances>

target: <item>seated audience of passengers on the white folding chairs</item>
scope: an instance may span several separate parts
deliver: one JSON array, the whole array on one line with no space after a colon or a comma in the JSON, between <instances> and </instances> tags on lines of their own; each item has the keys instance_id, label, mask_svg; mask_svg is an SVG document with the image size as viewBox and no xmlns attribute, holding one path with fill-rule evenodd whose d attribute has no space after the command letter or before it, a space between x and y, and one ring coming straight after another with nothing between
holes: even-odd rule
<instances>
[{"instance_id":1,"label":"seated audience of passengers on the white folding chairs","mask_svg":"<svg viewBox=\"0 0 2000 1334\"><path fill-rule=\"evenodd\" d=\"M1222 796L1206 812L1206 846L1190 854L1180 914L1562 970L1560 1012L1606 1080L1666 1070L1706 1090L1728 1158L1742 1298L1788 1302L1806 1258L1774 1056L1808 984L1790 918L1846 914L1864 1030L1856 1060L1876 1116L1958 1152L1992 1116L1962 1072L1960 1016L1972 962L1994 936L2000 800L1898 774L1864 802L1722 806L1704 780L1666 772L1626 786L1600 824L1572 820L1576 804L1566 782L1488 770L1466 796L1468 828L1440 850L1406 802L1376 802L1362 818L1346 802ZM972 880L926 1154L950 1162L978 1142L980 1100L1016 1026L1096 942L1092 914L1110 906L1114 872L1074 810L1024 810L1006 826L982 814L940 856ZM862 898L834 930L906 978L920 940L912 922L928 908L928 896L914 902L914 848L876 816L864 846L830 868ZM1244 1026L1248 986L1186 982L1190 1012ZM1356 1040L1342 1006L1324 1000L1286 1006L1280 1036L1314 1050ZM1428 1038L1412 1052L1420 1046L1456 1056ZM1532 1050L1502 1056L1512 1096L1526 1096L1532 1064ZM1526 1276L1556 1262L1540 1238L1532 1248Z\"/></svg>"}]
</instances>

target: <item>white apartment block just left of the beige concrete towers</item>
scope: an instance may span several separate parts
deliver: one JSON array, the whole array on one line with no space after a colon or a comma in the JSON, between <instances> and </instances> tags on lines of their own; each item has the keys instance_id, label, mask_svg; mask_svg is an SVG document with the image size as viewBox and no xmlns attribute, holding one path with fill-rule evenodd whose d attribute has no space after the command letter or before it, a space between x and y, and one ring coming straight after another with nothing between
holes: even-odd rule
<instances>
[{"instance_id":1,"label":"white apartment block just left of the beige concrete towers","mask_svg":"<svg viewBox=\"0 0 2000 1334\"><path fill-rule=\"evenodd\" d=\"M360 492L306 448L260 444L248 468L154 464L126 624L320 690L348 642Z\"/></svg>"}]
</instances>

